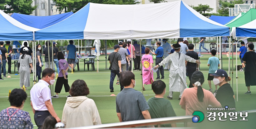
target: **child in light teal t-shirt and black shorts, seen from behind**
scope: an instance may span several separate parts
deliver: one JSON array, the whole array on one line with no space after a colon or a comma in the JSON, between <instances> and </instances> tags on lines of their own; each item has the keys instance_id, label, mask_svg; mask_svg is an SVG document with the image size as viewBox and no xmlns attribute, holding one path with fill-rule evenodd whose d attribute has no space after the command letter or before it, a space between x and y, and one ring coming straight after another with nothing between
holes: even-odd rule
<instances>
[{"instance_id":1,"label":"child in light teal t-shirt and black shorts, seen from behind","mask_svg":"<svg viewBox=\"0 0 256 129\"><path fill-rule=\"evenodd\" d=\"M214 74L215 71L218 70L218 67L219 67L219 58L215 57L216 52L217 51L215 49L213 49L211 51L212 57L209 58L208 63L207 63L207 65L209 66L209 74L208 74L208 79L207 80L208 80L209 87L210 87L209 91L211 91L211 92L213 92L211 81L213 80L214 76L211 76L210 74ZM217 86L218 85L215 85L214 93L217 92L217 89L218 89Z\"/></svg>"}]
</instances>

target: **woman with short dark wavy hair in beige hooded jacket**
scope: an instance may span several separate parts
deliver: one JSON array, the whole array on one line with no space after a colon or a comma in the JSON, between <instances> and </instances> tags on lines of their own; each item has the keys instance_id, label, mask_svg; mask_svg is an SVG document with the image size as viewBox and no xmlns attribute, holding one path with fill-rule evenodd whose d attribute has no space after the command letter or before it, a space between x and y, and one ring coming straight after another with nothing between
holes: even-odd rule
<instances>
[{"instance_id":1,"label":"woman with short dark wavy hair in beige hooded jacket","mask_svg":"<svg viewBox=\"0 0 256 129\"><path fill-rule=\"evenodd\" d=\"M101 118L92 99L87 98L89 88L84 80L73 82L62 113L62 122L66 128L101 124ZM75 118L79 119L75 119Z\"/></svg>"}]
</instances>

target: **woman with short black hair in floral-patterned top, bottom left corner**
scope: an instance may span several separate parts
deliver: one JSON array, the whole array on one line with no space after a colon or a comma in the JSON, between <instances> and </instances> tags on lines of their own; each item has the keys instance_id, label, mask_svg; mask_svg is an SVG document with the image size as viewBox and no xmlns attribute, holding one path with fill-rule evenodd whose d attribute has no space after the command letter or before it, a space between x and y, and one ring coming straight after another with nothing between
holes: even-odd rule
<instances>
[{"instance_id":1,"label":"woman with short black hair in floral-patterned top, bottom left corner","mask_svg":"<svg viewBox=\"0 0 256 129\"><path fill-rule=\"evenodd\" d=\"M29 113L22 110L26 99L27 93L22 89L12 90L9 95L9 102L11 106L0 112L1 129L33 128Z\"/></svg>"}]
</instances>

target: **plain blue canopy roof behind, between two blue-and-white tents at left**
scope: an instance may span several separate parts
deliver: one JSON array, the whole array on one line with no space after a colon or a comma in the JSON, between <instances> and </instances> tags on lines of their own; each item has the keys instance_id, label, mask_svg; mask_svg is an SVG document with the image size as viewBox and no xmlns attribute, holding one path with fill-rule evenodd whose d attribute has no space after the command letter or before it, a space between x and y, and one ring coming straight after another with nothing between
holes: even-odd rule
<instances>
[{"instance_id":1,"label":"plain blue canopy roof behind, between two blue-and-white tents at left","mask_svg":"<svg viewBox=\"0 0 256 129\"><path fill-rule=\"evenodd\" d=\"M67 13L52 15L52 16L31 16L31 15L13 13L11 17L21 22L22 24L25 24L37 29L43 29L53 24L56 24L73 14L74 14L73 12L67 12Z\"/></svg>"}]
</instances>

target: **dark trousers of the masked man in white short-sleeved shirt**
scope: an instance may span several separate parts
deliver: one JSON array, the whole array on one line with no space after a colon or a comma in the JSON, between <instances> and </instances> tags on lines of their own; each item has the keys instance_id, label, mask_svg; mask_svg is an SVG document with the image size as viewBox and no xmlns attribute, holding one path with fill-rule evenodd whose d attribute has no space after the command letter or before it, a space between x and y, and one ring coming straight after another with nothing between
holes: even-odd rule
<instances>
[{"instance_id":1,"label":"dark trousers of the masked man in white short-sleeved shirt","mask_svg":"<svg viewBox=\"0 0 256 129\"><path fill-rule=\"evenodd\" d=\"M38 129L42 128L42 125L48 116L52 116L49 111L36 111L35 112L34 120L35 120L35 123L36 123Z\"/></svg>"}]
</instances>

